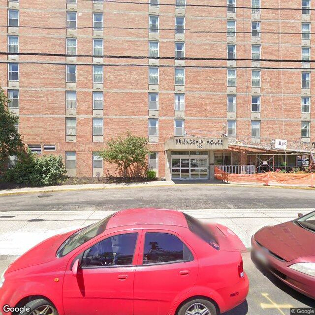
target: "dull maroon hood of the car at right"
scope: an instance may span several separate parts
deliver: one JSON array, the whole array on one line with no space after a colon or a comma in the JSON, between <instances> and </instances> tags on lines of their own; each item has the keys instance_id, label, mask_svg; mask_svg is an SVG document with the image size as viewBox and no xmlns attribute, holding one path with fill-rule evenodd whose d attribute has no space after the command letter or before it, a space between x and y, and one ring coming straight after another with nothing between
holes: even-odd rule
<instances>
[{"instance_id":1,"label":"dull maroon hood of the car at right","mask_svg":"<svg viewBox=\"0 0 315 315\"><path fill-rule=\"evenodd\" d=\"M292 221L266 226L255 233L254 239L286 261L315 254L315 233Z\"/></svg>"}]
</instances>

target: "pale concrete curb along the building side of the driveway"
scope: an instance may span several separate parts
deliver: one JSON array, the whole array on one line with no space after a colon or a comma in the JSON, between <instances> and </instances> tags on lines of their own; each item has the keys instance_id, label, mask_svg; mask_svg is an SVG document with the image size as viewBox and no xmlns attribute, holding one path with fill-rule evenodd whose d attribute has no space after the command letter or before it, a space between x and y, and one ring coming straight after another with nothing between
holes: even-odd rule
<instances>
[{"instance_id":1,"label":"pale concrete curb along the building side of the driveway","mask_svg":"<svg viewBox=\"0 0 315 315\"><path fill-rule=\"evenodd\" d=\"M132 185L132 184L131 184ZM84 186L84 185L80 185ZM18 195L18 194L30 194L30 193L42 193L42 192L68 192L68 191L79 191L79 190L103 190L103 189L137 189L137 188L152 188L152 187L174 187L174 186L224 186L224 187L247 187L247 188L264 188L264 189L273 189L273 188L283 188L283 189L304 189L304 190L315 190L311 187L306 186L284 186L284 185L273 185L263 186L257 184L207 184L207 183L191 183L191 184L165 184L165 185L132 185L132 186L106 186L106 187L74 187L74 188L53 188L53 189L33 189L28 191L8 191L0 192L1 196L9 195Z\"/></svg>"}]
</instances>

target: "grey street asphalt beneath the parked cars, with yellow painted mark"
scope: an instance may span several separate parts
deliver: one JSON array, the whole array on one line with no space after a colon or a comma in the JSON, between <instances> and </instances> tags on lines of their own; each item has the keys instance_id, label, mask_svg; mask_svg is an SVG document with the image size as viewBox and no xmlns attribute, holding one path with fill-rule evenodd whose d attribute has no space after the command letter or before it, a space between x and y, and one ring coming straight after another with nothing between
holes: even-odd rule
<instances>
[{"instance_id":1,"label":"grey street asphalt beneath the parked cars, with yellow painted mark","mask_svg":"<svg viewBox=\"0 0 315 315\"><path fill-rule=\"evenodd\" d=\"M12 261L0 260L0 271ZM290 315L290 307L315 307L315 300L294 291L267 271L259 271L250 253L243 255L244 269L250 279L247 301L224 315Z\"/></svg>"}]
</instances>

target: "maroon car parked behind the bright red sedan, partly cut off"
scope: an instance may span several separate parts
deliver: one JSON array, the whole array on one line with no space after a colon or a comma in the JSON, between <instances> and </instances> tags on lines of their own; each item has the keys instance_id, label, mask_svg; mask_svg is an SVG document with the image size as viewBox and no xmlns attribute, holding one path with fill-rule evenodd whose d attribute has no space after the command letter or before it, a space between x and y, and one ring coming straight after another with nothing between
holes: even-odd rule
<instances>
[{"instance_id":1,"label":"maroon car parked behind the bright red sedan, partly cut off","mask_svg":"<svg viewBox=\"0 0 315 315\"><path fill-rule=\"evenodd\" d=\"M315 211L261 228L252 236L252 258L285 284L315 299Z\"/></svg>"}]
</instances>

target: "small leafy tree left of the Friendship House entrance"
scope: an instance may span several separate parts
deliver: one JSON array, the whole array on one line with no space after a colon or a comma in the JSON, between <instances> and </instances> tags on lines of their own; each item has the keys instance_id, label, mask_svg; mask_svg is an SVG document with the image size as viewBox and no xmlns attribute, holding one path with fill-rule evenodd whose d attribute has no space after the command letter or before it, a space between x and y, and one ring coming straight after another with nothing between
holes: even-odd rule
<instances>
[{"instance_id":1,"label":"small leafy tree left of the Friendship House entrance","mask_svg":"<svg viewBox=\"0 0 315 315\"><path fill-rule=\"evenodd\" d=\"M117 164L118 168L123 171L124 177L126 177L127 169L130 166L140 164L144 167L146 165L147 156L150 153L147 148L147 138L126 132L126 134L109 141L107 145L106 149L100 151L100 157L110 164Z\"/></svg>"}]
</instances>

